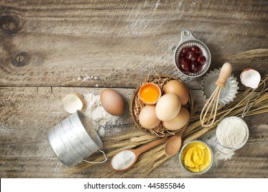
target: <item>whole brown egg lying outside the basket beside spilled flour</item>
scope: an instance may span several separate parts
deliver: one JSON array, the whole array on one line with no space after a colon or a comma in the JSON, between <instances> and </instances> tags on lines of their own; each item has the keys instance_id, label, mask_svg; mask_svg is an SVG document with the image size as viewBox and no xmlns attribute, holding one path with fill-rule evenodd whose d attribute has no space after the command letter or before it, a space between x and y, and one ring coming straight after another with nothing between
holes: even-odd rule
<instances>
[{"instance_id":1,"label":"whole brown egg lying outside the basket beside spilled flour","mask_svg":"<svg viewBox=\"0 0 268 192\"><path fill-rule=\"evenodd\" d=\"M100 93L100 103L111 115L122 115L124 112L124 98L112 88L105 88Z\"/></svg>"}]
</instances>

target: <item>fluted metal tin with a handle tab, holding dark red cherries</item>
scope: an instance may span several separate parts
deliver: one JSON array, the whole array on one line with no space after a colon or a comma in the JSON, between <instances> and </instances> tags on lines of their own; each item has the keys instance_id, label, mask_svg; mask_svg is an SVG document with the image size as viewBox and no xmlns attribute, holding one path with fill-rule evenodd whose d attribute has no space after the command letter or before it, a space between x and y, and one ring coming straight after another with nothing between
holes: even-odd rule
<instances>
[{"instance_id":1,"label":"fluted metal tin with a handle tab, holding dark red cherries","mask_svg":"<svg viewBox=\"0 0 268 192\"><path fill-rule=\"evenodd\" d=\"M186 71L181 71L181 69L179 69L179 55L182 49L189 48L192 46L199 47L199 49L201 50L201 54L205 57L205 64L203 64L203 67L197 73L190 73ZM211 62L210 50L203 42L201 42L201 40L197 40L197 38L194 38L189 29L183 29L181 31L181 42L175 49L174 62L178 71L183 75L186 75L187 77L200 77L201 75L205 74L205 72L208 71L210 67Z\"/></svg>"}]
</instances>

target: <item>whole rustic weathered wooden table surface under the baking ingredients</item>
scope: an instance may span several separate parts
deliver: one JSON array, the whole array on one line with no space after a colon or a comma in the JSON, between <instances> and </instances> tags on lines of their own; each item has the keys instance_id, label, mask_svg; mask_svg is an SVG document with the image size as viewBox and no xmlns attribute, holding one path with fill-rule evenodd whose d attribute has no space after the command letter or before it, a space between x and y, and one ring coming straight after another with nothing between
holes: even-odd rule
<instances>
[{"instance_id":1,"label":"whole rustic weathered wooden table surface under the baking ingredients","mask_svg":"<svg viewBox=\"0 0 268 192\"><path fill-rule=\"evenodd\" d=\"M113 87L129 101L157 71L181 78L202 105L202 77L182 76L173 62L185 27L208 45L210 69L231 62L235 77L247 67L264 77L267 9L268 1L0 1L0 177L102 178L111 171L109 163L70 171L54 155L47 132L68 116L61 102L67 93L85 97ZM126 108L104 129L133 128L129 116ZM245 147L208 173L191 176L173 156L147 177L267 178L267 114L245 121Z\"/></svg>"}]
</instances>

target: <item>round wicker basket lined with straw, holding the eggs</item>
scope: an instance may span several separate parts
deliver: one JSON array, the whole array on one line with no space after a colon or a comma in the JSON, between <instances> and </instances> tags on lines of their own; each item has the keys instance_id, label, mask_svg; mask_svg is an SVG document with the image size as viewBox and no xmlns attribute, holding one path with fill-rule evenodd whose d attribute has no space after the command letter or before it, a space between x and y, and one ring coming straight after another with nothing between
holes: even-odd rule
<instances>
[{"instance_id":1,"label":"round wicker basket lined with straw, holding the eggs","mask_svg":"<svg viewBox=\"0 0 268 192\"><path fill-rule=\"evenodd\" d=\"M142 82L140 86L142 86L142 84L146 82L153 82L161 88L161 91L163 91L164 86L170 80L179 80L186 86L186 84L183 81L181 81L178 77L174 77L172 75L155 75L153 77L147 77L147 79L144 82ZM135 89L131 97L131 101L129 103L129 112L131 114L131 120L133 121L135 128L142 130L146 134L158 136L158 137L171 136L179 132L179 130L181 129L175 130L175 131L167 130L162 124L162 122L159 123L159 125L156 128L153 128L151 130L148 130L142 127L142 125L139 123L139 112L142 110L142 108L144 108L145 105L142 103L142 101L139 100L139 97L138 97L140 86ZM190 112L190 117L192 117L192 114L194 113L194 99L193 99L192 91L189 91L189 96L190 96L189 102L185 107L188 108ZM186 124L186 126L187 125L188 123Z\"/></svg>"}]
</instances>

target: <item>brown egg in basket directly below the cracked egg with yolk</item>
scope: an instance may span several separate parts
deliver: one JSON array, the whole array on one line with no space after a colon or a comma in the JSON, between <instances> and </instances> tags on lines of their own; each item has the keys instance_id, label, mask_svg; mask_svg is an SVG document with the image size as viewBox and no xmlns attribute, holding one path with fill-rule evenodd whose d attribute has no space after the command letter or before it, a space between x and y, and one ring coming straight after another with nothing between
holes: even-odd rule
<instances>
[{"instance_id":1,"label":"brown egg in basket directly below the cracked egg with yolk","mask_svg":"<svg viewBox=\"0 0 268 192\"><path fill-rule=\"evenodd\" d=\"M145 106L139 113L139 123L150 130L159 125L160 120L155 114L155 106Z\"/></svg>"}]
</instances>

